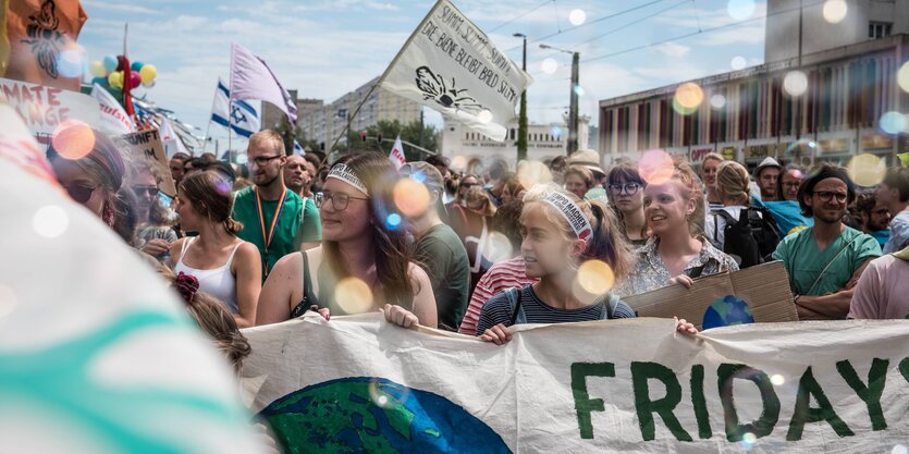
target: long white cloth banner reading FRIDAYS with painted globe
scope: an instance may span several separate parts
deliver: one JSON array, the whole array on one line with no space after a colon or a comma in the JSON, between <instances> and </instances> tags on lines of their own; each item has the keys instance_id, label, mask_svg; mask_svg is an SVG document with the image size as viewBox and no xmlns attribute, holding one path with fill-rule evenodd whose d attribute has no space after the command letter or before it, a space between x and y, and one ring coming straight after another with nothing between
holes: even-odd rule
<instances>
[{"instance_id":1,"label":"long white cloth banner reading FRIDAYS with painted globe","mask_svg":"<svg viewBox=\"0 0 909 454\"><path fill-rule=\"evenodd\" d=\"M504 346L381 315L245 330L243 388L292 453L890 452L909 322L525 326Z\"/></svg>"}]
</instances>

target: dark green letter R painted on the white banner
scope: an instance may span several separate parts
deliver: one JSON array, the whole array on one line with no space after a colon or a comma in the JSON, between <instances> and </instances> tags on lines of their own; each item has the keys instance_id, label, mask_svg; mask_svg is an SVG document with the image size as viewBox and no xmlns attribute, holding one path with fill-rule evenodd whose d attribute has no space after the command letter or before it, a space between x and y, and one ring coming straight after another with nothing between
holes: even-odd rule
<instances>
[{"instance_id":1,"label":"dark green letter R painted on the white banner","mask_svg":"<svg viewBox=\"0 0 909 454\"><path fill-rule=\"evenodd\" d=\"M656 401L650 400L649 379L656 379L666 386L666 396ZM680 441L691 441L691 435L681 428L673 409L681 401L681 386L675 372L666 366L656 363L631 363L631 383L635 389L635 408L638 410L638 424L644 441L656 438L656 427L653 414L663 418L663 422Z\"/></svg>"}]
</instances>

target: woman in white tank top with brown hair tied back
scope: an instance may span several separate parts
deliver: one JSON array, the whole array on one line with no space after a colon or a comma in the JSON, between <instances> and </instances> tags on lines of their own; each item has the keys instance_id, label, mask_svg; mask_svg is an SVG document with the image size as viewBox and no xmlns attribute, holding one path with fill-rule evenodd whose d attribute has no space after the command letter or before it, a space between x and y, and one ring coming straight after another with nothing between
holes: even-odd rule
<instances>
[{"instance_id":1,"label":"woman in white tank top with brown hair tied back","mask_svg":"<svg viewBox=\"0 0 909 454\"><path fill-rule=\"evenodd\" d=\"M184 176L174 207L181 225L199 234L174 242L168 266L195 277L199 290L218 298L246 328L256 322L262 265L256 245L236 237L243 225L231 218L232 206L231 184L218 173Z\"/></svg>"}]
</instances>

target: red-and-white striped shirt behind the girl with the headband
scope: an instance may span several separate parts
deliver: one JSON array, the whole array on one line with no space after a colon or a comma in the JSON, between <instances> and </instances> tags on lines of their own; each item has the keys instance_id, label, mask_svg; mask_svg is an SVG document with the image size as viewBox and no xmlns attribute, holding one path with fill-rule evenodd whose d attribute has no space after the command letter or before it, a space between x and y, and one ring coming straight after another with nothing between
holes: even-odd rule
<instances>
[{"instance_id":1,"label":"red-and-white striped shirt behind the girl with the headband","mask_svg":"<svg viewBox=\"0 0 909 454\"><path fill-rule=\"evenodd\" d=\"M538 279L528 278L524 272L524 256L493 265L477 282L457 332L474 335L486 302L507 289L524 289L525 285L537 283L537 281Z\"/></svg>"}]
</instances>

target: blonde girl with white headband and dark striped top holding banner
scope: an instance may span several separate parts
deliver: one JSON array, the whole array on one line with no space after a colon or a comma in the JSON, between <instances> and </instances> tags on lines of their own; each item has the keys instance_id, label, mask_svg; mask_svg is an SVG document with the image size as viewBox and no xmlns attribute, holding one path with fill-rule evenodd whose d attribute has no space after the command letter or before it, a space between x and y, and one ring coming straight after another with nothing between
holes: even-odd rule
<instances>
[{"instance_id":1,"label":"blonde girl with white headband and dark striped top holding banner","mask_svg":"<svg viewBox=\"0 0 909 454\"><path fill-rule=\"evenodd\" d=\"M563 191L535 189L525 197L520 246L528 278L540 281L511 289L483 306L477 326L481 340L498 345L512 339L508 327L634 318L615 294L590 294L579 285L579 269L589 260L605 263L615 281L627 275L632 254L612 211ZM602 265L597 263L602 269ZM595 280L607 279L597 273ZM696 332L680 320L677 330Z\"/></svg>"}]
</instances>

